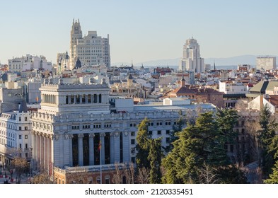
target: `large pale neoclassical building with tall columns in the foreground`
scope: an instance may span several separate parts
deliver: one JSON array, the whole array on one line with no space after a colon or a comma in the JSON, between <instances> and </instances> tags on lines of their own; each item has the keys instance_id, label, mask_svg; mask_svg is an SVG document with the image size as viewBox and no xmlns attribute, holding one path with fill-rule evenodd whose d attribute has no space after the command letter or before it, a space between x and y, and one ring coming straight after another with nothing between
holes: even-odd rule
<instances>
[{"instance_id":1,"label":"large pale neoclassical building with tall columns in the foreground","mask_svg":"<svg viewBox=\"0 0 278 198\"><path fill-rule=\"evenodd\" d=\"M116 105L112 111L110 88L104 80L100 84L93 81L64 84L62 79L58 84L44 81L40 91L41 109L33 112L31 118L34 167L56 173L54 177L59 175L60 183L73 182L66 180L67 173L98 173L100 164L103 181L110 178L108 182L111 182L108 176L115 163L135 162L137 125L141 120L148 117L151 120L149 134L153 138L162 136L163 146L168 146L170 130L180 110L195 112L200 106L129 105L125 108ZM202 108L212 110L215 107L207 104ZM90 179L91 182L97 180L99 176Z\"/></svg>"}]
</instances>

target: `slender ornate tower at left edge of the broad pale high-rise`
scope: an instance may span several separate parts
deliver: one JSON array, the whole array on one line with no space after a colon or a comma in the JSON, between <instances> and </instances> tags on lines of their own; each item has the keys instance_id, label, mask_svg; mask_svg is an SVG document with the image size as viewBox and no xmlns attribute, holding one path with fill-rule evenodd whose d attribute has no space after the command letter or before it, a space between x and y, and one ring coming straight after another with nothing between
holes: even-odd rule
<instances>
[{"instance_id":1,"label":"slender ornate tower at left edge of the broad pale high-rise","mask_svg":"<svg viewBox=\"0 0 278 198\"><path fill-rule=\"evenodd\" d=\"M78 21L72 21L71 26L71 49L69 50L69 56L70 56L70 68L72 69L74 67L74 63L76 62L76 59L74 57L74 45L77 44L77 40L82 38L82 31L81 26Z\"/></svg>"}]
</instances>

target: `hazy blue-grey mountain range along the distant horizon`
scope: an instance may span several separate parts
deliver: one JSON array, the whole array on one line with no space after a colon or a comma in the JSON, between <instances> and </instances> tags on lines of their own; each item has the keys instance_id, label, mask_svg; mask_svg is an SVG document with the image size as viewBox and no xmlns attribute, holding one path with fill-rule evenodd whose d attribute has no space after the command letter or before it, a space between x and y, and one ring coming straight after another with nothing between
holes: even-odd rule
<instances>
[{"instance_id":1,"label":"hazy blue-grey mountain range along the distant horizon","mask_svg":"<svg viewBox=\"0 0 278 198\"><path fill-rule=\"evenodd\" d=\"M250 64L251 66L255 66L257 55L242 55L237 57L228 57L228 58L204 58L205 64L211 64L212 66L216 65L216 68L219 66L237 66L238 64ZM278 59L278 56L275 56ZM180 62L180 58L176 59L160 59L153 60L149 62L141 62L135 63L134 66L178 66ZM112 66L121 66L121 65L130 65L131 63L121 62L121 63L113 63Z\"/></svg>"}]
</instances>

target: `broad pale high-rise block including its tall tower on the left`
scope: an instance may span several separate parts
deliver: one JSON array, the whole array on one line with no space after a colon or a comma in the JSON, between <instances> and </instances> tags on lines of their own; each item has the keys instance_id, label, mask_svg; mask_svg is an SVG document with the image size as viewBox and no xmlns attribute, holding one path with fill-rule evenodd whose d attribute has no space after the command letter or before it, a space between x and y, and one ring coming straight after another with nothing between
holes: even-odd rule
<instances>
[{"instance_id":1,"label":"broad pale high-rise block including its tall tower on the left","mask_svg":"<svg viewBox=\"0 0 278 198\"><path fill-rule=\"evenodd\" d=\"M100 37L96 31L88 31L88 35L82 37L81 25L73 21L71 26L70 68L73 69L77 59L81 65L93 66L105 64L110 67L109 35Z\"/></svg>"}]
</instances>

